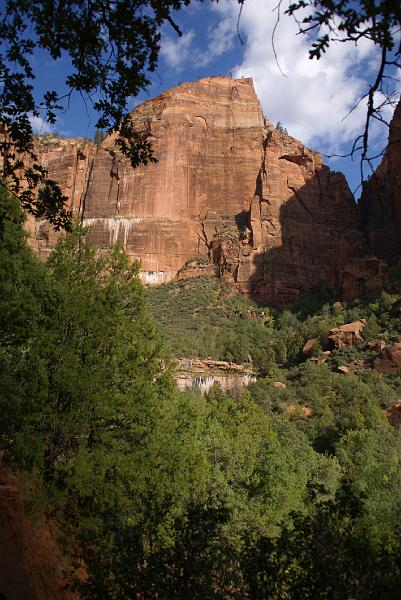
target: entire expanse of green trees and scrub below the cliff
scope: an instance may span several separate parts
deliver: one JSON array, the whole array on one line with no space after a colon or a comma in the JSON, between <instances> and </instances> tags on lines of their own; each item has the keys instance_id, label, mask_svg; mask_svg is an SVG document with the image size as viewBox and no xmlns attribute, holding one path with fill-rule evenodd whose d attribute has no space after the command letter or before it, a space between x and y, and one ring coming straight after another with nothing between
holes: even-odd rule
<instances>
[{"instance_id":1,"label":"entire expanse of green trees and scrub below the cliff","mask_svg":"<svg viewBox=\"0 0 401 600\"><path fill-rule=\"evenodd\" d=\"M306 316L199 280L152 290L153 318L119 247L97 256L77 228L44 264L22 224L3 194L0 444L85 563L82 598L399 597L399 377L366 344L302 355L362 315L366 340L398 340L396 289ZM162 335L263 376L239 399L180 393Z\"/></svg>"}]
</instances>

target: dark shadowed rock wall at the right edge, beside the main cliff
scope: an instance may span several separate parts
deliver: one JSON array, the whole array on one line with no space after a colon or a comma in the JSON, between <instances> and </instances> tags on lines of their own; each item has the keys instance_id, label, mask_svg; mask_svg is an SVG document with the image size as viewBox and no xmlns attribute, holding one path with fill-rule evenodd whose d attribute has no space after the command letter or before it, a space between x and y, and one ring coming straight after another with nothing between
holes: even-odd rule
<instances>
[{"instance_id":1,"label":"dark shadowed rock wall at the right edge, beside the main cliff","mask_svg":"<svg viewBox=\"0 0 401 600\"><path fill-rule=\"evenodd\" d=\"M361 197L363 224L374 254L395 264L401 256L401 100L383 160Z\"/></svg>"}]
</instances>

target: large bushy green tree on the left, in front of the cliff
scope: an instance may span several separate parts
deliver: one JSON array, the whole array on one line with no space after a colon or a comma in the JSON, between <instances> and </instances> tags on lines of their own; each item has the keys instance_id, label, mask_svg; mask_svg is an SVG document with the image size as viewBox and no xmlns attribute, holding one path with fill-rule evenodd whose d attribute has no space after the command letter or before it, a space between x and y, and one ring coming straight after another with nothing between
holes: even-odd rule
<instances>
[{"instance_id":1,"label":"large bushy green tree on the left, in front of the cliff","mask_svg":"<svg viewBox=\"0 0 401 600\"><path fill-rule=\"evenodd\" d=\"M76 231L46 267L26 246L16 200L1 209L7 458L81 502L123 503L130 480L139 496L135 469L172 384L137 265L118 247L97 257Z\"/></svg>"}]
</instances>

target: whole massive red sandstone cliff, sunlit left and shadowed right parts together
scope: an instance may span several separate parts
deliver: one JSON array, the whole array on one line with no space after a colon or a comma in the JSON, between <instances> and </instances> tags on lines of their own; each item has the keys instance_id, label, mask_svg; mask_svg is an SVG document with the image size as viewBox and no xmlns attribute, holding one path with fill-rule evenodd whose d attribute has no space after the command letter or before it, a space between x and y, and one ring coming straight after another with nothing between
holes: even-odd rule
<instances>
[{"instance_id":1,"label":"whole massive red sandstone cliff, sunlit left and shadowed right parts together","mask_svg":"<svg viewBox=\"0 0 401 600\"><path fill-rule=\"evenodd\" d=\"M138 106L133 120L157 164L132 169L113 136L97 152L82 140L43 152L92 242L121 241L140 259L146 283L190 275L182 267L198 258L246 294L280 306L315 286L341 288L344 268L364 245L353 196L319 154L274 130L251 79L181 84ZM53 243L38 226L39 251ZM371 287L379 280L375 271Z\"/></svg>"}]
</instances>

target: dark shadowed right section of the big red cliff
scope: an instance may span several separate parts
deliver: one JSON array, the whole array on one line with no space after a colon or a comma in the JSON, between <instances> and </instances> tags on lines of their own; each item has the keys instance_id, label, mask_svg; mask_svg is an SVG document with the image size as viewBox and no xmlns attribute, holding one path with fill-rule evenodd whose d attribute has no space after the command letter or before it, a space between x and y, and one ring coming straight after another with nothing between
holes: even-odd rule
<instances>
[{"instance_id":1,"label":"dark shadowed right section of the big red cliff","mask_svg":"<svg viewBox=\"0 0 401 600\"><path fill-rule=\"evenodd\" d=\"M304 157L283 160L301 164ZM339 295L344 265L366 251L358 206L345 178L327 167L303 187L290 188L291 197L280 206L263 197L262 183L259 174L255 201L260 219L251 223L247 213L252 251L249 245L240 248L238 283L260 304L294 307L309 297L318 310ZM243 219L243 213L237 215L237 224Z\"/></svg>"}]
</instances>

